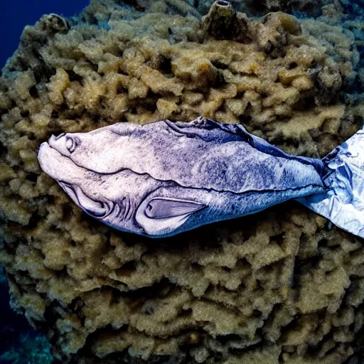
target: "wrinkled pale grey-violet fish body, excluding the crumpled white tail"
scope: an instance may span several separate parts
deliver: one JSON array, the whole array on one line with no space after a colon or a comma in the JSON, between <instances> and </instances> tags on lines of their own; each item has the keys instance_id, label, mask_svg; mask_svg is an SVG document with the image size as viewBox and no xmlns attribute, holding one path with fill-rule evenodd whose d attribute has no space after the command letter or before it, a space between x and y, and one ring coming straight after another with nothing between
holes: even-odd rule
<instances>
[{"instance_id":1,"label":"wrinkled pale grey-violet fish body, excluding the crumpled white tail","mask_svg":"<svg viewBox=\"0 0 364 364\"><path fill-rule=\"evenodd\" d=\"M323 162L291 156L240 124L198 117L50 137L41 168L113 228L167 237L323 193Z\"/></svg>"}]
</instances>

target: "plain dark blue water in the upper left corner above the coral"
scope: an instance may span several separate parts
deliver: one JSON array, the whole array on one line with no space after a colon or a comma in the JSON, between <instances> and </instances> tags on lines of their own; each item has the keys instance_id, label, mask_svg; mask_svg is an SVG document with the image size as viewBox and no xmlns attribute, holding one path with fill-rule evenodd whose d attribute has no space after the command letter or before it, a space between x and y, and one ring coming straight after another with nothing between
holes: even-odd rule
<instances>
[{"instance_id":1,"label":"plain dark blue water in the upper left corner above the coral","mask_svg":"<svg viewBox=\"0 0 364 364\"><path fill-rule=\"evenodd\" d=\"M43 14L73 16L88 0L0 0L0 69L16 50L24 26L34 25Z\"/></svg>"}]
</instances>

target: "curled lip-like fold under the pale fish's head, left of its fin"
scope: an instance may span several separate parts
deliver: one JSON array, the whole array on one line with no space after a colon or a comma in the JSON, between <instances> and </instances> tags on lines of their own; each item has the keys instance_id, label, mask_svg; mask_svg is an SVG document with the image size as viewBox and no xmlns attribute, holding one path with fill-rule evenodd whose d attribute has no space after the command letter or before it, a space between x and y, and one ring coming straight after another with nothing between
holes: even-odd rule
<instances>
[{"instance_id":1,"label":"curled lip-like fold under the pale fish's head, left of its fin","mask_svg":"<svg viewBox=\"0 0 364 364\"><path fill-rule=\"evenodd\" d=\"M58 181L65 193L73 199L73 201L93 218L103 219L112 213L115 204L111 201L92 200L77 185L71 185L63 181Z\"/></svg>"}]
</instances>

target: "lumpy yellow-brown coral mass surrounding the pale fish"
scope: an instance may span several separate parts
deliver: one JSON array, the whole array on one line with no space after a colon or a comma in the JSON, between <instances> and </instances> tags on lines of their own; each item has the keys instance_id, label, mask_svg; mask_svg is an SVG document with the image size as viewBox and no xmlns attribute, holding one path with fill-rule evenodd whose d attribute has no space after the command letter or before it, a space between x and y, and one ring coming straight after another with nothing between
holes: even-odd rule
<instances>
[{"instance_id":1,"label":"lumpy yellow-brown coral mass surrounding the pale fish","mask_svg":"<svg viewBox=\"0 0 364 364\"><path fill-rule=\"evenodd\" d=\"M224 1L202 18L184 1L142 5L45 15L2 72L11 305L60 363L357 363L363 240L295 202L150 240L92 220L42 173L51 134L119 121L203 115L315 157L360 127L355 26L247 18Z\"/></svg>"}]
</instances>

